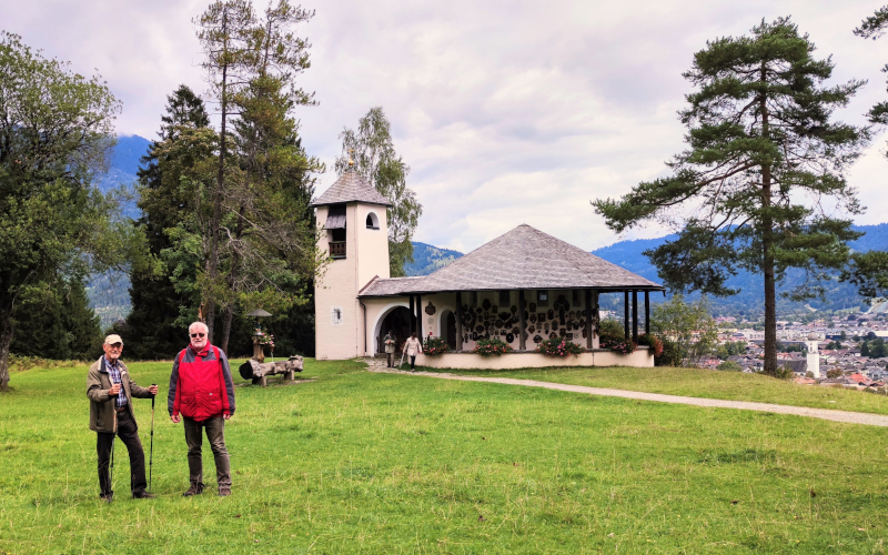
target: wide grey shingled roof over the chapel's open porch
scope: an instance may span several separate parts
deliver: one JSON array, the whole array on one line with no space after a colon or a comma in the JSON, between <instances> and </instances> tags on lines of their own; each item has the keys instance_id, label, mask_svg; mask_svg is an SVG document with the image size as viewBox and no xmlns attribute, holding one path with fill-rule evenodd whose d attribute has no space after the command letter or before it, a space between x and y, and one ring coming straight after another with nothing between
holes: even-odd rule
<instances>
[{"instance_id":1,"label":"wide grey shingled roof over the chapel's open porch","mask_svg":"<svg viewBox=\"0 0 888 555\"><path fill-rule=\"evenodd\" d=\"M522 224L426 276L374 280L360 296L547 289L662 291L663 286Z\"/></svg>"}]
</instances>

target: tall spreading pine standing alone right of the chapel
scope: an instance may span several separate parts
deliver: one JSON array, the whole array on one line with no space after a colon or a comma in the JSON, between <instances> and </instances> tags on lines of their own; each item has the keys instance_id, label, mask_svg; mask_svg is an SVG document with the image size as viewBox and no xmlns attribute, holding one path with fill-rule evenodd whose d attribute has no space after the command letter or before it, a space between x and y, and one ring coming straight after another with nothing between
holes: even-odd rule
<instances>
[{"instance_id":1,"label":"tall spreading pine standing alone right of the chapel","mask_svg":"<svg viewBox=\"0 0 888 555\"><path fill-rule=\"evenodd\" d=\"M776 282L801 268L809 281L791 296L821 293L820 280L847 263L847 241L859 236L824 206L861 212L845 171L869 133L830 117L864 83L823 85L834 65L814 50L789 19L707 42L685 73L696 90L680 112L689 148L669 162L674 173L593 203L617 232L648 220L684 223L676 241L646 252L672 289L729 295L725 280L738 269L761 274L770 374Z\"/></svg>"}]
</instances>

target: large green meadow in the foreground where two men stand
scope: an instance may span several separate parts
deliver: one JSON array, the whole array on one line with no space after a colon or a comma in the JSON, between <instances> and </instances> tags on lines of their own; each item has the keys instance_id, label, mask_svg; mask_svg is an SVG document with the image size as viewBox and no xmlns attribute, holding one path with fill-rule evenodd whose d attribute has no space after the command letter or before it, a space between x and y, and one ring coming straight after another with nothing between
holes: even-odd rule
<instances>
[{"instance_id":1,"label":"large green meadow in the foreground where two men stand","mask_svg":"<svg viewBox=\"0 0 888 555\"><path fill-rule=\"evenodd\" d=\"M131 364L162 394L169 371ZM888 536L886 428L354 362L306 361L294 385L238 389L226 498L181 496L183 433L159 403L158 498L128 498L119 448L109 505L85 373L18 372L0 396L0 553L869 554ZM148 455L150 402L135 404ZM204 461L214 476L209 448Z\"/></svg>"}]
</instances>

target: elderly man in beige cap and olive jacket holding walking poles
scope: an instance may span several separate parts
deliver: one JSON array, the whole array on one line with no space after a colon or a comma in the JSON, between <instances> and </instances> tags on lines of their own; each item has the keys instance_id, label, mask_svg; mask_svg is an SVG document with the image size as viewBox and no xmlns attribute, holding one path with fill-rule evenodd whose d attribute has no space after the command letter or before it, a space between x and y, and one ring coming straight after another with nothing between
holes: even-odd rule
<instances>
[{"instance_id":1,"label":"elderly man in beige cap and olive jacket holding walking poles","mask_svg":"<svg viewBox=\"0 0 888 555\"><path fill-rule=\"evenodd\" d=\"M127 365L120 361L123 352L120 335L105 337L102 350L104 355L92 363L87 374L90 430L97 433L95 451L99 454L99 498L110 503L114 497L108 463L115 436L120 436L130 452L130 490L133 498L151 498L153 495L145 492L145 454L139 441L132 398L151 398L158 394L158 386L140 387L132 381Z\"/></svg>"}]
</instances>

